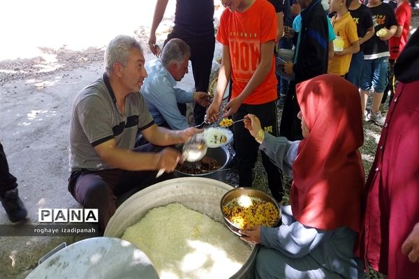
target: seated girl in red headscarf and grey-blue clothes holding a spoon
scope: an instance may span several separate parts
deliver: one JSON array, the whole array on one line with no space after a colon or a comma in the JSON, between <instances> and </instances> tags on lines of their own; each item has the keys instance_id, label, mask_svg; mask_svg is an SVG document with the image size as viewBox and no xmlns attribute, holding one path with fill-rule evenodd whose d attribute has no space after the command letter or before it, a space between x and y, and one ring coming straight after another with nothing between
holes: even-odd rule
<instances>
[{"instance_id":1,"label":"seated girl in red headscarf and grey-blue clothes holding a spoon","mask_svg":"<svg viewBox=\"0 0 419 279\"><path fill-rule=\"evenodd\" d=\"M244 241L261 244L256 278L363 278L353 254L364 186L358 89L339 76L320 75L297 84L297 100L302 141L265 133L252 114L244 120L260 149L293 177L283 224L242 231Z\"/></svg>"}]
</instances>

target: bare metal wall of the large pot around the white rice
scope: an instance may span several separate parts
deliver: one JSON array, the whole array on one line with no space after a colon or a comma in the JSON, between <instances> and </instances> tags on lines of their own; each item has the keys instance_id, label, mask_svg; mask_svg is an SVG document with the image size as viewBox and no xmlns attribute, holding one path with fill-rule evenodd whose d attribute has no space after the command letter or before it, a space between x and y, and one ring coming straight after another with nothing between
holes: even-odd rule
<instances>
[{"instance_id":1,"label":"bare metal wall of the large pot around the white rice","mask_svg":"<svg viewBox=\"0 0 419 279\"><path fill-rule=\"evenodd\" d=\"M233 186L201 177L170 179L149 186L135 193L119 206L105 229L105 236L121 237L127 227L138 223L154 207L179 202L212 219L223 223L220 210L221 198ZM254 264L258 246L251 246L252 252L242 269L230 278L254 278Z\"/></svg>"}]
</instances>

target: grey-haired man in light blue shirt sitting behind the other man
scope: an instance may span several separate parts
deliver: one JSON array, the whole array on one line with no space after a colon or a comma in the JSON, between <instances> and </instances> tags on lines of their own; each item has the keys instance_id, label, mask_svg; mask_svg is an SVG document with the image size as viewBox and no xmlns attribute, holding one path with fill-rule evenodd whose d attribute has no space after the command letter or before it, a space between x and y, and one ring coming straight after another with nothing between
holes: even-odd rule
<instances>
[{"instance_id":1,"label":"grey-haired man in light blue shirt sitting behind the other man","mask_svg":"<svg viewBox=\"0 0 419 279\"><path fill-rule=\"evenodd\" d=\"M189 46L179 38L172 38L163 48L160 59L145 64L149 76L144 80L140 92L158 126L172 130L189 127L177 103L195 101L202 107L210 105L210 95L207 92L188 92L174 87L188 73L190 56Z\"/></svg>"}]
</instances>

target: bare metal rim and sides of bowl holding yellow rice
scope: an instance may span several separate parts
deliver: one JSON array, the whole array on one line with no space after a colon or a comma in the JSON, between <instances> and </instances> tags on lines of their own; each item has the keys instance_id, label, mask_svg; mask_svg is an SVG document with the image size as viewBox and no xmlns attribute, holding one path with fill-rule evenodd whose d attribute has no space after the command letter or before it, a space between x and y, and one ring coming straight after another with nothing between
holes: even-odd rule
<instances>
[{"instance_id":1,"label":"bare metal rim and sides of bowl holding yellow rice","mask_svg":"<svg viewBox=\"0 0 419 279\"><path fill-rule=\"evenodd\" d=\"M232 202L233 200L240 199L241 197L244 197L246 199L248 199L248 197L254 197L254 198L259 199L263 202L271 202L272 204L274 204L275 208L278 211L278 218L277 218L277 220L275 220L272 227L277 227L277 225L281 224L281 208L279 207L279 204L277 203L277 201L273 197L271 197L270 195L267 195L267 193L262 192L260 190L253 189L253 188L239 187L239 188L235 188L233 190L228 191L221 198L221 202L220 202L221 212L223 211L223 206L226 206L230 202ZM235 234L237 234L239 236L242 235L239 232L239 230L242 229L242 228L235 225L231 220L228 219L228 217L224 213L223 213L223 219L224 219L224 223L226 223L227 227L232 232L234 232Z\"/></svg>"}]
</instances>

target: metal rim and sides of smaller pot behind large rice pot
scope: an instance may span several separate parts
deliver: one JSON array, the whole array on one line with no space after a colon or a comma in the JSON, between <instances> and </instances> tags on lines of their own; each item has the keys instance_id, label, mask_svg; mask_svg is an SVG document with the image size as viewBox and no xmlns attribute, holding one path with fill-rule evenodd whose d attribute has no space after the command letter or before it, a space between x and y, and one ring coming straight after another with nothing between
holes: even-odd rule
<instances>
[{"instance_id":1,"label":"metal rim and sides of smaller pot behind large rice pot","mask_svg":"<svg viewBox=\"0 0 419 279\"><path fill-rule=\"evenodd\" d=\"M215 148L209 148L207 149L206 156L216 160L221 165L221 167L219 167L219 169L214 170L213 172L206 172L205 174L186 174L184 172L179 172L178 170L175 170L175 172L173 172L173 176L175 176L175 178L189 177L189 176L204 177L207 179L216 179L218 181L226 182L226 177L227 177L226 165L230 161L230 151L228 151L228 148L223 145L219 147L215 147ZM189 167L193 167L194 164L197 164L197 163L184 162L184 165L189 166Z\"/></svg>"}]
</instances>

